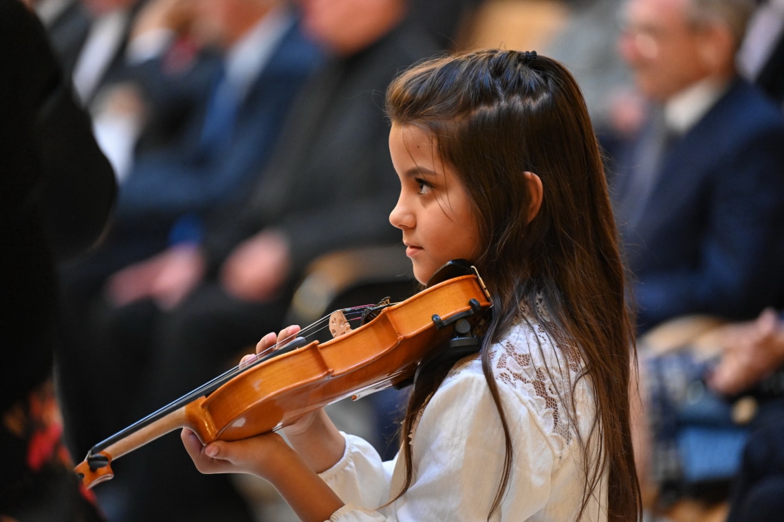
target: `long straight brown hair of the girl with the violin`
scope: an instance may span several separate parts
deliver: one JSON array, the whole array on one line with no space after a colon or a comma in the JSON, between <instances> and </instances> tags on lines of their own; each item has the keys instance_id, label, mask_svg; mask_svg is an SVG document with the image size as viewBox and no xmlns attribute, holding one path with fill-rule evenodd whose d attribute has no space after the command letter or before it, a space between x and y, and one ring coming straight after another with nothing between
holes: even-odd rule
<instances>
[{"instance_id":1,"label":"long straight brown hair of the girl with the violin","mask_svg":"<svg viewBox=\"0 0 784 522\"><path fill-rule=\"evenodd\" d=\"M534 52L485 50L428 60L405 71L387 90L391 121L428 131L441 160L465 185L481 229L481 256L471 260L492 293L492 319L482 368L506 435L506 461L488 519L509 482L512 441L489 365L489 344L543 300L551 337L579 347L597 415L586 440L573 401L567 418L583 452L583 517L608 470L608 519L641 517L640 488L630 434L633 326L604 167L579 86L560 63ZM539 214L523 173L542 180ZM401 428L405 486L412 482L408 444L414 419L446 374L420 376ZM575 383L572 383L572 387ZM563 394L573 397L573 394ZM595 437L595 439L594 439ZM597 448L595 455L590 448ZM398 495L399 496L399 495Z\"/></svg>"}]
</instances>

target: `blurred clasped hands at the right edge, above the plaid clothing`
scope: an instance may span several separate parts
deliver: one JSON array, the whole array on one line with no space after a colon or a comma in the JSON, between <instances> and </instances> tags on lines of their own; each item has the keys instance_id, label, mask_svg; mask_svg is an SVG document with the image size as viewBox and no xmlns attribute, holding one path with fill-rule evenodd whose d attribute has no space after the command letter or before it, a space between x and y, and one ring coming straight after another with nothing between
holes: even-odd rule
<instances>
[{"instance_id":1,"label":"blurred clasped hands at the right edge, above the plaid clothing","mask_svg":"<svg viewBox=\"0 0 784 522\"><path fill-rule=\"evenodd\" d=\"M772 308L753 321L721 327L717 338L724 350L708 384L721 394L745 391L784 363L784 325Z\"/></svg>"}]
</instances>

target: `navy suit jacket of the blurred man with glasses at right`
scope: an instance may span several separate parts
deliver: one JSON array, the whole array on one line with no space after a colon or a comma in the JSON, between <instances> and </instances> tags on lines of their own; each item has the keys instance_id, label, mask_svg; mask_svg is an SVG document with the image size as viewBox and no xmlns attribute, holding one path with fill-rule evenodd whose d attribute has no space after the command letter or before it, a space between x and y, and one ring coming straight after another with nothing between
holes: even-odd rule
<instances>
[{"instance_id":1,"label":"navy suit jacket of the blurred man with glasses at right","mask_svg":"<svg viewBox=\"0 0 784 522\"><path fill-rule=\"evenodd\" d=\"M617 196L624 173L621 164ZM641 218L619 225L641 330L677 315L745 319L781 305L784 116L734 81L662 157Z\"/></svg>"}]
</instances>

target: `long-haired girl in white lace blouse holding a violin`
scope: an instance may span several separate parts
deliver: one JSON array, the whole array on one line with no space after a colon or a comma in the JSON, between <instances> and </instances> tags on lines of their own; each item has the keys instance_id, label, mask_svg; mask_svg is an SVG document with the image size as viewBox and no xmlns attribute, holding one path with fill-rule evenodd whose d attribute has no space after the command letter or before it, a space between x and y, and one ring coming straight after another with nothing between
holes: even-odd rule
<instances>
[{"instance_id":1,"label":"long-haired girl in white lace blouse holding a violin","mask_svg":"<svg viewBox=\"0 0 784 522\"><path fill-rule=\"evenodd\" d=\"M397 77L387 112L390 221L420 283L457 258L482 275L481 351L419 376L391 462L321 409L283 429L289 444L183 430L196 466L263 477L302 520L637 520L633 329L574 78L535 52L441 57Z\"/></svg>"}]
</instances>

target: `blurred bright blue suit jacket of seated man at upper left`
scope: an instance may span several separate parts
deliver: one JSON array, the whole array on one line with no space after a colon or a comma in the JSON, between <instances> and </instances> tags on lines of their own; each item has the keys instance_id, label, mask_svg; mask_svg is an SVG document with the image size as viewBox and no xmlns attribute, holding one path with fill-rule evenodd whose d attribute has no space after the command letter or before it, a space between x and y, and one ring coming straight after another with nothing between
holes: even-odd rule
<instances>
[{"instance_id":1,"label":"blurred bright blue suit jacket of seated man at upper left","mask_svg":"<svg viewBox=\"0 0 784 522\"><path fill-rule=\"evenodd\" d=\"M183 214L201 214L242 196L267 163L294 96L320 62L314 43L293 25L245 95L220 154L198 150L207 98L202 92L201 108L179 142L136 157L120 189L116 232L159 236Z\"/></svg>"}]
</instances>

